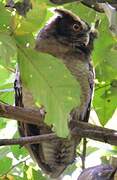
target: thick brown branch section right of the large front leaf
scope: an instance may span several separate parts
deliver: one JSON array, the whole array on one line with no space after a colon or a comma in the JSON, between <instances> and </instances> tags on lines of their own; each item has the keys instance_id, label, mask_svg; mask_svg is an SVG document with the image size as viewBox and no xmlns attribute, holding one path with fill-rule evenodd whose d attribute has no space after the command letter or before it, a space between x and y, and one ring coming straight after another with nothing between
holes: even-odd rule
<instances>
[{"instance_id":1,"label":"thick brown branch section right of the large front leaf","mask_svg":"<svg viewBox=\"0 0 117 180\"><path fill-rule=\"evenodd\" d=\"M117 131L89 123L77 122L77 127L72 130L71 134L76 136L76 138L81 136L111 145L117 145Z\"/></svg>"}]
</instances>

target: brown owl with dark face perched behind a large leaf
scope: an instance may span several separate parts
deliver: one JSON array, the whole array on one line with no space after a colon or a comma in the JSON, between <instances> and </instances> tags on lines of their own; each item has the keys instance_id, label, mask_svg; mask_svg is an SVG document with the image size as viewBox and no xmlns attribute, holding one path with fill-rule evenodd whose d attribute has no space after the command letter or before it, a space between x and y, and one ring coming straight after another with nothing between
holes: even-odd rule
<instances>
[{"instance_id":1,"label":"brown owl with dark face perched behind a large leaf","mask_svg":"<svg viewBox=\"0 0 117 180\"><path fill-rule=\"evenodd\" d=\"M80 84L81 103L70 112L69 127L72 130L74 128L72 122L77 124L78 121L87 122L89 119L94 86L94 72L90 56L96 33L87 22L71 12L65 9L55 9L55 12L57 16L38 33L35 49L59 58ZM21 84L19 70L16 77L14 86L16 106L35 108L31 92ZM46 124L40 128L37 125L20 122L18 127L23 137L52 133L51 127ZM45 174L50 178L58 178L66 167L74 162L76 147L80 139L72 136L69 139L56 136L54 140L28 144L26 148Z\"/></svg>"}]
</instances>

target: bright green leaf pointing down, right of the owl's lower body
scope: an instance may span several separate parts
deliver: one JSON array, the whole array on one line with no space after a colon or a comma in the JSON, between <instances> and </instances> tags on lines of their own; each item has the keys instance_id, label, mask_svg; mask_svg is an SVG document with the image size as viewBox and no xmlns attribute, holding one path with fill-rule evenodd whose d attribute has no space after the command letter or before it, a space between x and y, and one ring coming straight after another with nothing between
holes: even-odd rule
<instances>
[{"instance_id":1,"label":"bright green leaf pointing down, right of the owl's lower body","mask_svg":"<svg viewBox=\"0 0 117 180\"><path fill-rule=\"evenodd\" d=\"M103 88L99 88L95 90L93 104L95 111L98 114L100 123L105 125L117 108L117 94L112 92L111 87L105 86Z\"/></svg>"}]
</instances>

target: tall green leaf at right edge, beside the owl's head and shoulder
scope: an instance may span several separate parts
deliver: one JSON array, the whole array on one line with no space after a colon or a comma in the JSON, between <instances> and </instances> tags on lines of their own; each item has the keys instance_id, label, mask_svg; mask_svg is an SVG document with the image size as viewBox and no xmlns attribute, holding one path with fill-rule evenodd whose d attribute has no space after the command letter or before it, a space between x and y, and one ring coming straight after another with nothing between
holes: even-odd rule
<instances>
[{"instance_id":1,"label":"tall green leaf at right edge, beside the owl's head and shoulder","mask_svg":"<svg viewBox=\"0 0 117 180\"><path fill-rule=\"evenodd\" d=\"M101 17L99 37L95 42L93 60L96 77L100 81L109 81L117 77L117 42L111 36L105 16Z\"/></svg>"}]
</instances>

